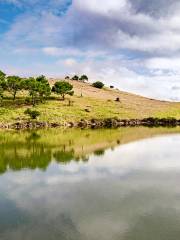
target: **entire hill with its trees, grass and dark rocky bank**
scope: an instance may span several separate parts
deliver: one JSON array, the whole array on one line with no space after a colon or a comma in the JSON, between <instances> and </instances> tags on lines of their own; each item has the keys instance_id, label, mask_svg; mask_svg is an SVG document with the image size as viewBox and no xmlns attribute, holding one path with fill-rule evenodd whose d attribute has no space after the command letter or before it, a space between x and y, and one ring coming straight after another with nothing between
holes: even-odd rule
<instances>
[{"instance_id":1,"label":"entire hill with its trees, grass and dark rocky bank","mask_svg":"<svg viewBox=\"0 0 180 240\"><path fill-rule=\"evenodd\" d=\"M88 83L86 75L21 78L0 71L0 128L179 126L180 103Z\"/></svg>"}]
</instances>

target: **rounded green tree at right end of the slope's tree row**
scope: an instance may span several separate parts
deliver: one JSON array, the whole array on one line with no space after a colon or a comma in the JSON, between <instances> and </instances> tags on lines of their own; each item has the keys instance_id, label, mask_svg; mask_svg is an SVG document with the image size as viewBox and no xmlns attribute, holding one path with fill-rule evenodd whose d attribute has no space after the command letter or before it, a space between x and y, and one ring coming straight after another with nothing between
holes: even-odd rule
<instances>
[{"instance_id":1,"label":"rounded green tree at right end of the slope's tree row","mask_svg":"<svg viewBox=\"0 0 180 240\"><path fill-rule=\"evenodd\" d=\"M59 94L62 96L62 99L65 99L65 95L73 95L74 91L72 91L73 85L66 82L66 81L60 81L56 82L52 88L52 91L56 94Z\"/></svg>"}]
</instances>

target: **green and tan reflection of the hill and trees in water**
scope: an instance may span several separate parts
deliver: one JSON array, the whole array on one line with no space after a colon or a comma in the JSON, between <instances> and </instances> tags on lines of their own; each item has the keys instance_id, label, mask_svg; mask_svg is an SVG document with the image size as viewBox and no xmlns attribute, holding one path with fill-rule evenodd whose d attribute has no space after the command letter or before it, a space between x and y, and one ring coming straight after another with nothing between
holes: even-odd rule
<instances>
[{"instance_id":1,"label":"green and tan reflection of the hill and trees in water","mask_svg":"<svg viewBox=\"0 0 180 240\"><path fill-rule=\"evenodd\" d=\"M158 134L179 133L179 128L122 128L101 130L51 129L36 132L0 132L0 173L21 169L46 170L52 161L68 164L88 161L106 149Z\"/></svg>"}]
</instances>

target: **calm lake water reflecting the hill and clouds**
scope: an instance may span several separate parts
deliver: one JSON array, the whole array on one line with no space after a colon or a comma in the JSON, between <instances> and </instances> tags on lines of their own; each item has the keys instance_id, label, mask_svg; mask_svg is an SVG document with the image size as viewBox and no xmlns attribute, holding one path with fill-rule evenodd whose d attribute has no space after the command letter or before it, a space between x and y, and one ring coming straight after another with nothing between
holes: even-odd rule
<instances>
[{"instance_id":1,"label":"calm lake water reflecting the hill and clouds","mask_svg":"<svg viewBox=\"0 0 180 240\"><path fill-rule=\"evenodd\" d=\"M0 240L180 239L180 130L0 133Z\"/></svg>"}]
</instances>

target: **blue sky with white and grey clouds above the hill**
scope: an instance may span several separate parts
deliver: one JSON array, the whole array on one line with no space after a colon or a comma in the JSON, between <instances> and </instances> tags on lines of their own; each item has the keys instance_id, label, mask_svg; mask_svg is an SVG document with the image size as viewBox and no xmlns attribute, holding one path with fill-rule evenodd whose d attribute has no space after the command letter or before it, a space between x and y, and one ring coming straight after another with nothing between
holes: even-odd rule
<instances>
[{"instance_id":1,"label":"blue sky with white and grey clouds above the hill","mask_svg":"<svg viewBox=\"0 0 180 240\"><path fill-rule=\"evenodd\" d=\"M0 0L0 69L180 100L179 0Z\"/></svg>"}]
</instances>

